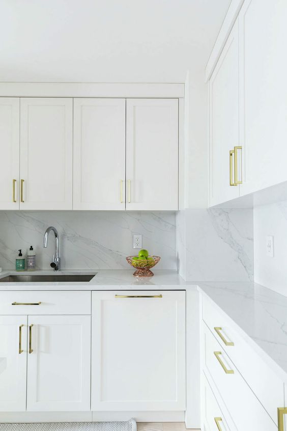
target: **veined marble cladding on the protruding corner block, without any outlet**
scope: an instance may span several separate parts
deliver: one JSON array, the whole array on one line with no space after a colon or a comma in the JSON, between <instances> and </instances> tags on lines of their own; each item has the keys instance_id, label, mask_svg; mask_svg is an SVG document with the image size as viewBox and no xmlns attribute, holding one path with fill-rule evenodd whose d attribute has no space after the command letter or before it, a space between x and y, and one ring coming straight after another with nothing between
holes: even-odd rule
<instances>
[{"instance_id":1,"label":"veined marble cladding on the protruding corner block, without any outlet","mask_svg":"<svg viewBox=\"0 0 287 431\"><path fill-rule=\"evenodd\" d=\"M177 261L186 281L253 281L253 210L177 213Z\"/></svg>"}]
</instances>

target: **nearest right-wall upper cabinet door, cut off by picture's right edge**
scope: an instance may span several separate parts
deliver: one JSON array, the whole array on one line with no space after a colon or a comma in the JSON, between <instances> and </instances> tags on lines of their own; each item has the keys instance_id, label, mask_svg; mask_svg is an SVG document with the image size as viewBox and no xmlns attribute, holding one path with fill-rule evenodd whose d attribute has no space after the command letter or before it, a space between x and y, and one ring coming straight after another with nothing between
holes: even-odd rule
<instances>
[{"instance_id":1,"label":"nearest right-wall upper cabinet door, cut off by picture's right edge","mask_svg":"<svg viewBox=\"0 0 287 431\"><path fill-rule=\"evenodd\" d=\"M287 180L287 2L247 0L239 15L240 194Z\"/></svg>"}]
</instances>

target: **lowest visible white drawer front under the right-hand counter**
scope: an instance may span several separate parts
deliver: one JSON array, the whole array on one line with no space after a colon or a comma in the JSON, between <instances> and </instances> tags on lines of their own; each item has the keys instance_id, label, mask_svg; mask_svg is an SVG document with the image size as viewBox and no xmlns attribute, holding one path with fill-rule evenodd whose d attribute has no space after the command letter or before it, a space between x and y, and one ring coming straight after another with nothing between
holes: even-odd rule
<instances>
[{"instance_id":1,"label":"lowest visible white drawer front under the right-hand counter","mask_svg":"<svg viewBox=\"0 0 287 431\"><path fill-rule=\"evenodd\" d=\"M207 431L218 431L217 424L222 431L235 431L233 424L228 426L204 374L202 375L202 412L204 429Z\"/></svg>"}]
</instances>

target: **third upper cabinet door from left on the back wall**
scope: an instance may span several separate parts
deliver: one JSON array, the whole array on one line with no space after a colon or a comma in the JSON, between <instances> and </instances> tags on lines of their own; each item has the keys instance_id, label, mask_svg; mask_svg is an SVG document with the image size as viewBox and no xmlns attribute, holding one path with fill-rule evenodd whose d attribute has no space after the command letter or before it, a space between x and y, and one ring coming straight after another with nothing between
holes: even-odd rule
<instances>
[{"instance_id":1,"label":"third upper cabinet door from left on the back wall","mask_svg":"<svg viewBox=\"0 0 287 431\"><path fill-rule=\"evenodd\" d=\"M74 99L73 209L125 209L126 99Z\"/></svg>"}]
</instances>

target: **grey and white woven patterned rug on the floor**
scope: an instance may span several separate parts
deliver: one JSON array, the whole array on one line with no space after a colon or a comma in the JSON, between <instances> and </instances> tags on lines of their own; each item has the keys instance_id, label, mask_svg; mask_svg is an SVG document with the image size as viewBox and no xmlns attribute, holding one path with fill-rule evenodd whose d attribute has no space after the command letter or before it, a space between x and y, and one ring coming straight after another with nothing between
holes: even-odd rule
<instances>
[{"instance_id":1,"label":"grey and white woven patterned rug on the floor","mask_svg":"<svg viewBox=\"0 0 287 431\"><path fill-rule=\"evenodd\" d=\"M136 422L0 423L0 431L136 431Z\"/></svg>"}]
</instances>

